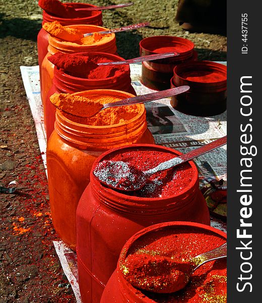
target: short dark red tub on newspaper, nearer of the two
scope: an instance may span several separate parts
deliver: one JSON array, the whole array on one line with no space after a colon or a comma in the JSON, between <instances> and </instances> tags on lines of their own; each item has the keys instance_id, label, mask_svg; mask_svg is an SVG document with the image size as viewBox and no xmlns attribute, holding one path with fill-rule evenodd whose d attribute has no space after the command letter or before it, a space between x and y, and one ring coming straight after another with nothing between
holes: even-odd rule
<instances>
[{"instance_id":1,"label":"short dark red tub on newspaper, nearer of the two","mask_svg":"<svg viewBox=\"0 0 262 303\"><path fill-rule=\"evenodd\" d=\"M193 116L215 116L227 106L227 67L212 61L194 61L174 68L171 88L189 85L190 89L171 97L171 106Z\"/></svg>"}]
</instances>

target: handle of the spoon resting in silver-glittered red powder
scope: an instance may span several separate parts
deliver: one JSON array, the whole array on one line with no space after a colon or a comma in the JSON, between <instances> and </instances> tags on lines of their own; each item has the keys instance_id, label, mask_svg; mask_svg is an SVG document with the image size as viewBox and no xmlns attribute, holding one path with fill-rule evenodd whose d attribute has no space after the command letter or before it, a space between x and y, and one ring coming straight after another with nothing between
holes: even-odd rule
<instances>
[{"instance_id":1,"label":"handle of the spoon resting in silver-glittered red powder","mask_svg":"<svg viewBox=\"0 0 262 303\"><path fill-rule=\"evenodd\" d=\"M183 87L183 86L180 86L180 87ZM195 148L195 149L189 151L188 153L183 154L179 157L172 158L168 161L162 162L158 166L156 166L155 168L152 168L148 171L145 171L144 173L145 174L154 174L154 173L157 173L159 171L166 170L166 169L171 168L171 167L175 167L175 166L180 165L184 162L187 162L189 160L192 160L194 158L202 156L202 155L208 153L209 151L211 151L213 149L216 149L218 147L221 147L221 146L225 145L226 143L227 143L227 136L224 136L224 137L222 137L220 139L217 139L217 140L215 140L211 143L208 143L204 146L201 146L199 148Z\"/></svg>"}]
</instances>

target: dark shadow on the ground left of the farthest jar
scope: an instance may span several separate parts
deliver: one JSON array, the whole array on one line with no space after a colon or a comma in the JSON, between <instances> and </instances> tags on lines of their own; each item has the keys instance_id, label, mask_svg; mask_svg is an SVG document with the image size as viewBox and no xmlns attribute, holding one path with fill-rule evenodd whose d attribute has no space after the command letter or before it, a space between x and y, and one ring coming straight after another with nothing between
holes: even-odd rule
<instances>
[{"instance_id":1,"label":"dark shadow on the ground left of the farthest jar","mask_svg":"<svg viewBox=\"0 0 262 303\"><path fill-rule=\"evenodd\" d=\"M42 20L26 18L7 19L0 14L0 38L13 36L20 39L36 41L37 34L42 27Z\"/></svg>"}]
</instances>

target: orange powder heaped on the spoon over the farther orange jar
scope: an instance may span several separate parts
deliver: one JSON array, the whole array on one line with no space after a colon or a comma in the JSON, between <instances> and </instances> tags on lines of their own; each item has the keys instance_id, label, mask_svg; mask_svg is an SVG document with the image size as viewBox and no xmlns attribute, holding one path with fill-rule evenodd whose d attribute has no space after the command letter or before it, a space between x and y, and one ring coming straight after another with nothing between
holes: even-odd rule
<instances>
[{"instance_id":1,"label":"orange powder heaped on the spoon over the farther orange jar","mask_svg":"<svg viewBox=\"0 0 262 303\"><path fill-rule=\"evenodd\" d=\"M83 38L81 31L75 28L64 27L58 21L44 23L43 29L50 35L65 41L79 41Z\"/></svg>"}]
</instances>

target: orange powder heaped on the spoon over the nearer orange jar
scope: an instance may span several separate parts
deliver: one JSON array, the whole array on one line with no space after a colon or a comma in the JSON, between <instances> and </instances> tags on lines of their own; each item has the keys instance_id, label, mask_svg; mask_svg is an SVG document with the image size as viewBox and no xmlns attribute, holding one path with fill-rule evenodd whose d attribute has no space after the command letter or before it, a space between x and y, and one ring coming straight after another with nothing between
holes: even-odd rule
<instances>
[{"instance_id":1,"label":"orange powder heaped on the spoon over the nearer orange jar","mask_svg":"<svg viewBox=\"0 0 262 303\"><path fill-rule=\"evenodd\" d=\"M54 93L50 96L50 101L60 111L78 117L92 117L103 108L96 100L70 93Z\"/></svg>"}]
</instances>

